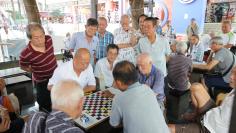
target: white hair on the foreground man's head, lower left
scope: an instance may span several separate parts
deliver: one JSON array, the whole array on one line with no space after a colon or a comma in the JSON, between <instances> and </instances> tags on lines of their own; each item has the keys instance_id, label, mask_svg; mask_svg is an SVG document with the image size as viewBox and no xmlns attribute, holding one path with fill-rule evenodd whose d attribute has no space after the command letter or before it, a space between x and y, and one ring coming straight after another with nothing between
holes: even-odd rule
<instances>
[{"instance_id":1,"label":"white hair on the foreground man's head, lower left","mask_svg":"<svg viewBox=\"0 0 236 133\"><path fill-rule=\"evenodd\" d=\"M53 108L76 107L84 92L74 80L62 80L52 87L51 100Z\"/></svg>"}]
</instances>

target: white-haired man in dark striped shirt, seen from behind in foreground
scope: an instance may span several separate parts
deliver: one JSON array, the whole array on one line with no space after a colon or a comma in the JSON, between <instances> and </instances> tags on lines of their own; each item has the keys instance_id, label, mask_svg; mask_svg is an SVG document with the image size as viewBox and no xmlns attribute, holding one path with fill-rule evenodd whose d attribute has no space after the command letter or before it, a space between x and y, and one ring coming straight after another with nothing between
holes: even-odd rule
<instances>
[{"instance_id":1,"label":"white-haired man in dark striped shirt, seen from behind in foreground","mask_svg":"<svg viewBox=\"0 0 236 133\"><path fill-rule=\"evenodd\" d=\"M51 91L52 112L34 113L25 124L23 133L84 133L73 121L81 115L83 95L76 81L59 81Z\"/></svg>"}]
</instances>

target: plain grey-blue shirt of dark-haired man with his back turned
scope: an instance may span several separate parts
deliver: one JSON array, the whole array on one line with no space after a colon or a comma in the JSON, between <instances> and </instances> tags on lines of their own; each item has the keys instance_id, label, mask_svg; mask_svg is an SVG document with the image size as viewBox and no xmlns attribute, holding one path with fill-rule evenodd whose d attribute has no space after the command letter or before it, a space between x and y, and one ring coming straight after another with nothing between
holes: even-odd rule
<instances>
[{"instance_id":1,"label":"plain grey-blue shirt of dark-haired man with his back turned","mask_svg":"<svg viewBox=\"0 0 236 133\"><path fill-rule=\"evenodd\" d=\"M110 124L122 124L124 133L169 133L154 92L138 82L115 95Z\"/></svg>"}]
</instances>

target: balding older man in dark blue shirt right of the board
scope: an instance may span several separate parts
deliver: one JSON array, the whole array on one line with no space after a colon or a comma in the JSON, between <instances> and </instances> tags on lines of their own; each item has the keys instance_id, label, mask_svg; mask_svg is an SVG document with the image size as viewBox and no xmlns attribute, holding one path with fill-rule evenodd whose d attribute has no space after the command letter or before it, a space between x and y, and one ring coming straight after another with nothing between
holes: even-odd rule
<instances>
[{"instance_id":1,"label":"balding older man in dark blue shirt right of the board","mask_svg":"<svg viewBox=\"0 0 236 133\"><path fill-rule=\"evenodd\" d=\"M148 53L142 53L137 57L139 83L148 85L156 94L157 100L164 108L164 75L152 64Z\"/></svg>"}]
</instances>

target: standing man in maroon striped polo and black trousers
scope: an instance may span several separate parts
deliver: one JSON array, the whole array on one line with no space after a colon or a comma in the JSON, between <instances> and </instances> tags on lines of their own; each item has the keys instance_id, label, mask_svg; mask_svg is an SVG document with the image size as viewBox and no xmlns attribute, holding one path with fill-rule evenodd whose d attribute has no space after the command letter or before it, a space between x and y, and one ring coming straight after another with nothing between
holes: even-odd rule
<instances>
[{"instance_id":1,"label":"standing man in maroon striped polo and black trousers","mask_svg":"<svg viewBox=\"0 0 236 133\"><path fill-rule=\"evenodd\" d=\"M51 99L47 84L57 67L52 38L45 35L43 27L37 23L26 27L26 35L30 41L20 54L19 64L21 69L32 73L39 110L50 112Z\"/></svg>"}]
</instances>

